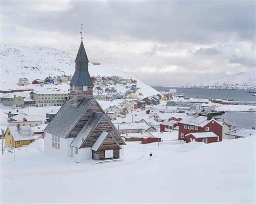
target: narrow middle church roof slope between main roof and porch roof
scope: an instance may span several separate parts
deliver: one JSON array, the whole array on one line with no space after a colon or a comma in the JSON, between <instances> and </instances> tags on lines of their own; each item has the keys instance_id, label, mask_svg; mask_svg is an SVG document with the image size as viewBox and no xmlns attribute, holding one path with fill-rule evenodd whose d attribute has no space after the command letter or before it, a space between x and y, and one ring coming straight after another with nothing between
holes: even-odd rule
<instances>
[{"instance_id":1,"label":"narrow middle church roof slope between main roof and porch roof","mask_svg":"<svg viewBox=\"0 0 256 204\"><path fill-rule=\"evenodd\" d=\"M86 138L91 134L94 128L103 117L103 113L92 113L91 118L87 121L82 130L78 133L77 137L72 141L72 147L80 148Z\"/></svg>"}]
</instances>

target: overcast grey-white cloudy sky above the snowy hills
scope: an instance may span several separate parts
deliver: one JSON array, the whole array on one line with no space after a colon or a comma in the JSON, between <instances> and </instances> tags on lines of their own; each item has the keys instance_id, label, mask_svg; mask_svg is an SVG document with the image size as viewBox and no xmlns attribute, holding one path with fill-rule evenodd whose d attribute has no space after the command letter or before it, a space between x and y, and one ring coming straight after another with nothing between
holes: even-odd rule
<instances>
[{"instance_id":1,"label":"overcast grey-white cloudy sky above the snowy hills","mask_svg":"<svg viewBox=\"0 0 256 204\"><path fill-rule=\"evenodd\" d=\"M4 1L1 42L76 55L149 85L255 70L255 1Z\"/></svg>"}]
</instances>

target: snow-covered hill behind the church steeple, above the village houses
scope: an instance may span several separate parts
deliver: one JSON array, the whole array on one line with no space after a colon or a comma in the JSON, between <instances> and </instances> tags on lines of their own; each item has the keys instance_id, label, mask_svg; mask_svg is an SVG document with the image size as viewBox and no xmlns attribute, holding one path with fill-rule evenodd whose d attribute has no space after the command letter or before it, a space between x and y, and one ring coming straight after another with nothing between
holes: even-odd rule
<instances>
[{"instance_id":1,"label":"snow-covered hill behind the church steeple, above the village houses","mask_svg":"<svg viewBox=\"0 0 256 204\"><path fill-rule=\"evenodd\" d=\"M29 82L36 78L45 79L48 76L72 75L75 72L75 57L68 52L49 47L26 47L0 45L1 53L1 89L17 88L18 79L26 77ZM78 48L77 48L78 49ZM91 76L120 76L133 78L121 70L89 63ZM138 80L139 92L144 96L158 93L151 86ZM20 87L19 87L20 88Z\"/></svg>"}]
</instances>

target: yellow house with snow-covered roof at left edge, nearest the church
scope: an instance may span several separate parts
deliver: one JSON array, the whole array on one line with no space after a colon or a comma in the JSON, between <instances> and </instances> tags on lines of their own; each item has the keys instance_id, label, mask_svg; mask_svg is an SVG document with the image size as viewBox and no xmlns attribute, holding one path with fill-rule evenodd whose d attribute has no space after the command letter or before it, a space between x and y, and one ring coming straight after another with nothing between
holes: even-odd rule
<instances>
[{"instance_id":1,"label":"yellow house with snow-covered roof at left edge, nearest the church","mask_svg":"<svg viewBox=\"0 0 256 204\"><path fill-rule=\"evenodd\" d=\"M35 141L30 126L9 126L4 136L5 145L13 148L24 147Z\"/></svg>"}]
</instances>

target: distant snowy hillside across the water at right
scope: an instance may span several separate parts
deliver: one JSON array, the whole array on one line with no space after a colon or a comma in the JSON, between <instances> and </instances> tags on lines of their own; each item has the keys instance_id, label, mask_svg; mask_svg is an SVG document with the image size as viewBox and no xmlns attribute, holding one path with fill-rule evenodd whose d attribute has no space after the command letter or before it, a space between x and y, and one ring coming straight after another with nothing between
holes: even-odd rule
<instances>
[{"instance_id":1,"label":"distant snowy hillside across the water at right","mask_svg":"<svg viewBox=\"0 0 256 204\"><path fill-rule=\"evenodd\" d=\"M222 77L207 81L201 84L195 84L190 87L201 89L256 89L256 72L240 72L232 76Z\"/></svg>"}]
</instances>

